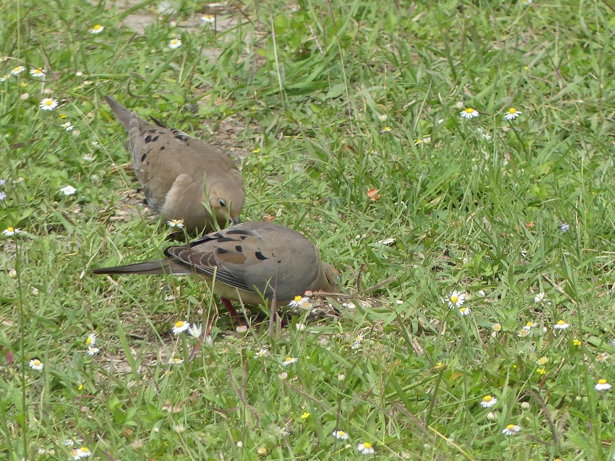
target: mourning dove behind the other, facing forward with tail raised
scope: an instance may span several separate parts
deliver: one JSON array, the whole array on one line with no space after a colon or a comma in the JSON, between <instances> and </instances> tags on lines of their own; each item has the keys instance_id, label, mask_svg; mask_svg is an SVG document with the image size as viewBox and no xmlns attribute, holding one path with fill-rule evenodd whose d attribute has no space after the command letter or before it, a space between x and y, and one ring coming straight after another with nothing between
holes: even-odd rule
<instances>
[{"instance_id":1,"label":"mourning dove behind the other, facing forward with tail raised","mask_svg":"<svg viewBox=\"0 0 615 461\"><path fill-rule=\"evenodd\" d=\"M105 100L130 134L126 149L132 152L135 174L148 205L162 219L183 219L188 232L210 232L215 227L205 202L218 226L226 227L229 220L239 223L244 182L231 157L156 119L156 125L150 125L111 97Z\"/></svg>"}]
</instances>

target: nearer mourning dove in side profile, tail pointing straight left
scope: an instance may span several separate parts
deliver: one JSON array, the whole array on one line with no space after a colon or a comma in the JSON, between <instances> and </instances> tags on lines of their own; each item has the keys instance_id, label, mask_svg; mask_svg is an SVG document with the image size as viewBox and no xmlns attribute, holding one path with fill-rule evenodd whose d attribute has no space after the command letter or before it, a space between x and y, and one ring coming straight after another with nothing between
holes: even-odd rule
<instances>
[{"instance_id":1,"label":"nearer mourning dove in side profile, tail pointing straight left","mask_svg":"<svg viewBox=\"0 0 615 461\"><path fill-rule=\"evenodd\" d=\"M287 304L307 290L338 291L339 272L320 261L318 248L288 227L253 221L203 235L188 245L169 246L166 259L101 267L95 274L197 274L232 301ZM215 274L215 275L214 275ZM261 296L261 294L263 296Z\"/></svg>"}]
</instances>

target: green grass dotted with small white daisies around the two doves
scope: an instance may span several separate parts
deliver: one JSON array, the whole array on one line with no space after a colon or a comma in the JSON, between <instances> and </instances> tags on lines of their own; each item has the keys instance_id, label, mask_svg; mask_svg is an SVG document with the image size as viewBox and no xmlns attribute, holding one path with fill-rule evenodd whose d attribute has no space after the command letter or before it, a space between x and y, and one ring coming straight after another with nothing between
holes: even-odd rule
<instances>
[{"instance_id":1,"label":"green grass dotted with small white daisies around the two doves","mask_svg":"<svg viewBox=\"0 0 615 461\"><path fill-rule=\"evenodd\" d=\"M77 438L97 459L613 458L608 2L103 3L0 1L0 76L26 68L0 82L0 228L22 230L0 235L2 457L70 459ZM189 361L171 328L204 323L204 286L90 274L169 234L104 94L236 151L244 220L309 235L338 313L271 336L221 312Z\"/></svg>"}]
</instances>

